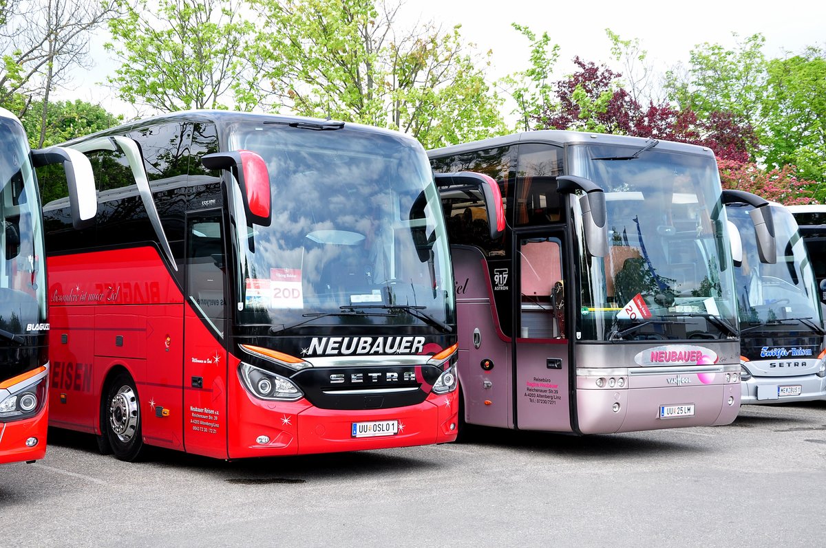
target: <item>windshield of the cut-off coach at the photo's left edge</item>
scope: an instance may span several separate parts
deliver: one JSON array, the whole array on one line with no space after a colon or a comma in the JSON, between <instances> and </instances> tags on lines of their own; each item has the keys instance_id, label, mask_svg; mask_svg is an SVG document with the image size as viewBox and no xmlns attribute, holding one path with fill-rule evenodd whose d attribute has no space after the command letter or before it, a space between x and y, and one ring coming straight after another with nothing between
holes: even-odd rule
<instances>
[{"instance_id":1,"label":"windshield of the cut-off coach at the photo's left edge","mask_svg":"<svg viewBox=\"0 0 826 548\"><path fill-rule=\"evenodd\" d=\"M37 196L26 135L17 122L0 117L0 346L22 340L14 336L45 322L45 274L40 267L45 254Z\"/></svg>"}]
</instances>

